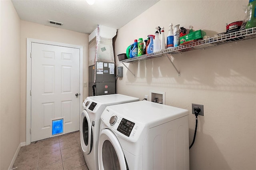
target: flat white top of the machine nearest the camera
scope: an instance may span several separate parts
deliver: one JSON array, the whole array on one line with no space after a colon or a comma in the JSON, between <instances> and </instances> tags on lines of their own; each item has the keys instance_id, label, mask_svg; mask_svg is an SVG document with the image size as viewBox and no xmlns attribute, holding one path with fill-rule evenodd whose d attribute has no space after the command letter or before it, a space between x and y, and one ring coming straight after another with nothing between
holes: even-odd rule
<instances>
[{"instance_id":1,"label":"flat white top of the machine nearest the camera","mask_svg":"<svg viewBox=\"0 0 256 170\"><path fill-rule=\"evenodd\" d=\"M104 112L106 112L106 110L113 115L123 117L135 123L141 123L142 125L149 126L149 128L162 125L189 114L189 111L186 109L150 101L137 101L112 105L106 107Z\"/></svg>"}]
</instances>

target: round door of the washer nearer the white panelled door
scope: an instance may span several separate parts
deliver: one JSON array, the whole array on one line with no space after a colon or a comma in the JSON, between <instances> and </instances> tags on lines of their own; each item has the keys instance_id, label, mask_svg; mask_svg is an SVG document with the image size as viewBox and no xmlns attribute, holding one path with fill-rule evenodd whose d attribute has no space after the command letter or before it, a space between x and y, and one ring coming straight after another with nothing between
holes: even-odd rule
<instances>
[{"instance_id":1,"label":"round door of the washer nearer the white panelled door","mask_svg":"<svg viewBox=\"0 0 256 170\"><path fill-rule=\"evenodd\" d=\"M82 112L80 127L80 138L82 151L85 154L89 154L92 150L92 126L89 115L86 110Z\"/></svg>"}]
</instances>

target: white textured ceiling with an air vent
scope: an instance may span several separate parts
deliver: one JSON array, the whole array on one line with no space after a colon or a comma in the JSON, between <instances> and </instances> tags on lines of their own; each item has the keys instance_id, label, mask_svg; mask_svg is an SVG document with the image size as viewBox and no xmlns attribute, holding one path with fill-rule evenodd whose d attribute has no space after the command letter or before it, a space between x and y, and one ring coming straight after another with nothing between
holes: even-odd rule
<instances>
[{"instance_id":1,"label":"white textured ceiling with an air vent","mask_svg":"<svg viewBox=\"0 0 256 170\"><path fill-rule=\"evenodd\" d=\"M21 20L90 34L96 26L119 29L159 0L12 0ZM48 20L64 23L56 26Z\"/></svg>"}]
</instances>

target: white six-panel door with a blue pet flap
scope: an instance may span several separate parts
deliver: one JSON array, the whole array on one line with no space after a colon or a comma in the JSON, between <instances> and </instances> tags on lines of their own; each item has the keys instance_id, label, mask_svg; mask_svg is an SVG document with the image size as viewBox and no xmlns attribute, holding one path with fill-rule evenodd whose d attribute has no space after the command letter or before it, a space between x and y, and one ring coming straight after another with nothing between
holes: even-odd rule
<instances>
[{"instance_id":1,"label":"white six-panel door with a blue pet flap","mask_svg":"<svg viewBox=\"0 0 256 170\"><path fill-rule=\"evenodd\" d=\"M32 42L31 56L31 142L52 137L52 119L79 130L80 49Z\"/></svg>"}]
</instances>

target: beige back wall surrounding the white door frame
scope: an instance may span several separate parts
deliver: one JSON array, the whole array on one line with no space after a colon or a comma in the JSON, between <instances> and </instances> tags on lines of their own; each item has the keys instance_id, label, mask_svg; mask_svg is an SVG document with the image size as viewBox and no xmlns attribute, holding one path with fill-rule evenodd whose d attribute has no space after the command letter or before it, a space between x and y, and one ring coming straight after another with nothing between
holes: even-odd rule
<instances>
[{"instance_id":1,"label":"beige back wall surrounding the white door frame","mask_svg":"<svg viewBox=\"0 0 256 170\"><path fill-rule=\"evenodd\" d=\"M83 46L83 81L88 82L88 36L88 34L21 21L21 142L26 141L26 38ZM84 87L83 93L83 98L86 99L88 87Z\"/></svg>"}]
</instances>

